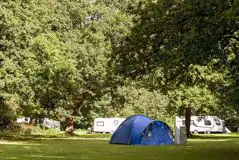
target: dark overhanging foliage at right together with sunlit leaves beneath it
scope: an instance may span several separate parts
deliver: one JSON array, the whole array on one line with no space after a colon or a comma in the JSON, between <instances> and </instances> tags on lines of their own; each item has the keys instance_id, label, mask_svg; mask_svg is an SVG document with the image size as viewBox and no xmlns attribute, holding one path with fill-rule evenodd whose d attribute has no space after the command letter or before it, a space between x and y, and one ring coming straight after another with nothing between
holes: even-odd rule
<instances>
[{"instance_id":1,"label":"dark overhanging foliage at right together with sunlit leaves beneath it","mask_svg":"<svg viewBox=\"0 0 239 160\"><path fill-rule=\"evenodd\" d=\"M238 1L140 3L135 26L115 49L115 70L168 95L171 113L238 112L231 100L238 97L237 6Z\"/></svg>"}]
</instances>

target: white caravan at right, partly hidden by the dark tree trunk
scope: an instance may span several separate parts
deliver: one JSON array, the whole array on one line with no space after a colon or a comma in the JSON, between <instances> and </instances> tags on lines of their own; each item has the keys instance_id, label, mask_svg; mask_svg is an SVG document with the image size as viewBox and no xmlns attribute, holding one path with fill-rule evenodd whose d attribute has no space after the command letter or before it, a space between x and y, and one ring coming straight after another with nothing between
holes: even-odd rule
<instances>
[{"instance_id":1,"label":"white caravan at right, partly hidden by the dark tree trunk","mask_svg":"<svg viewBox=\"0 0 239 160\"><path fill-rule=\"evenodd\" d=\"M176 125L185 126L184 117L176 117ZM197 133L224 133L225 122L217 116L191 116L190 132Z\"/></svg>"}]
</instances>

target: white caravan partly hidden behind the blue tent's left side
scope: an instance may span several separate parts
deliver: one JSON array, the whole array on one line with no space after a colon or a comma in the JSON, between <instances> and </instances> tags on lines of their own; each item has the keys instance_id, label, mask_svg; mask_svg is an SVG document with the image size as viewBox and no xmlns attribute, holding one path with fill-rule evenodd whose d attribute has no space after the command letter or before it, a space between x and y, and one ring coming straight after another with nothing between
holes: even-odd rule
<instances>
[{"instance_id":1,"label":"white caravan partly hidden behind the blue tent's left side","mask_svg":"<svg viewBox=\"0 0 239 160\"><path fill-rule=\"evenodd\" d=\"M94 120L93 132L114 133L125 118L96 118Z\"/></svg>"}]
</instances>

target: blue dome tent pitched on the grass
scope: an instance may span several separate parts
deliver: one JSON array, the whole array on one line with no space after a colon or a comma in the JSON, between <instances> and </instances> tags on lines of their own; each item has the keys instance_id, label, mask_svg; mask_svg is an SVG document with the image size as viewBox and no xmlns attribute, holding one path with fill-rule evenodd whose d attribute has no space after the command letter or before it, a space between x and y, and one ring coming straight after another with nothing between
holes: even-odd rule
<instances>
[{"instance_id":1,"label":"blue dome tent pitched on the grass","mask_svg":"<svg viewBox=\"0 0 239 160\"><path fill-rule=\"evenodd\" d=\"M162 121L143 115L127 118L111 137L110 144L163 145L172 144L172 130Z\"/></svg>"}]
</instances>

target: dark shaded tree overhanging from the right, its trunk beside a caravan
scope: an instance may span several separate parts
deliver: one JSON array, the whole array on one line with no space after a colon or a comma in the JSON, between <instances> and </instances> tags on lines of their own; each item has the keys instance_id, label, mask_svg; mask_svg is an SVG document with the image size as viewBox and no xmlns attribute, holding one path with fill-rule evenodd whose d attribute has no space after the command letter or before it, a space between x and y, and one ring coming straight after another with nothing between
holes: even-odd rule
<instances>
[{"instance_id":1,"label":"dark shaded tree overhanging from the right, its trunk beside a caravan","mask_svg":"<svg viewBox=\"0 0 239 160\"><path fill-rule=\"evenodd\" d=\"M213 72L208 75L215 75L222 69L220 64L228 57L224 47L229 44L229 37L235 37L234 33L238 31L237 6L238 1L140 3L132 33L120 47L115 48L116 70L134 79L162 70L164 80L160 87L163 92L177 92L178 89L181 90L180 85L187 86L185 89L192 92L192 95L200 95L201 91L203 93L208 89L207 92L213 93L214 87L225 89L224 84L220 86L221 83L207 83L203 78L200 79L197 70L193 75L190 73L195 66L213 68ZM212 63L213 61L217 63ZM226 67L225 64L223 66ZM194 81L194 77L198 77L199 81ZM204 89L194 90L200 83L203 85L199 86ZM225 94L222 90L216 91L218 92L210 95ZM183 93L183 97L188 97L187 92ZM192 99L191 102L199 100L194 99L194 96L189 99ZM195 107L191 102L188 105ZM196 103L198 107L202 106L200 102L202 101ZM190 115L186 115L187 117ZM190 122L188 118L186 121Z\"/></svg>"}]
</instances>

